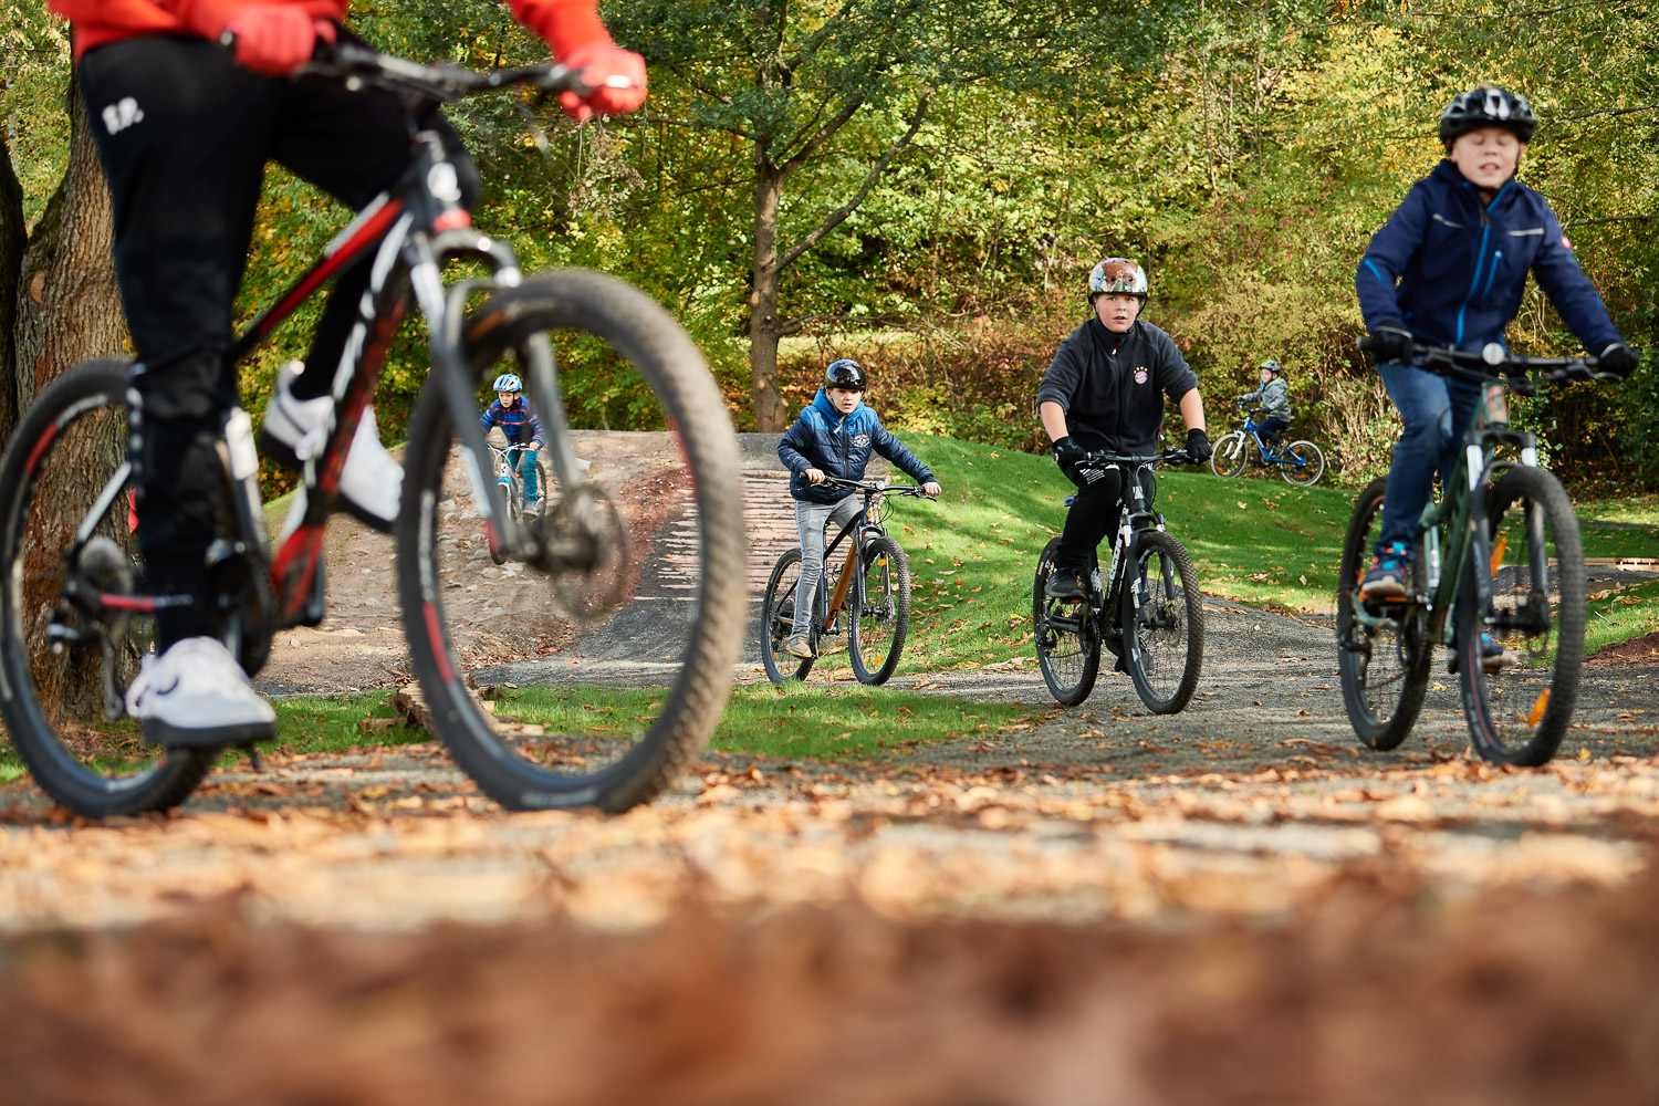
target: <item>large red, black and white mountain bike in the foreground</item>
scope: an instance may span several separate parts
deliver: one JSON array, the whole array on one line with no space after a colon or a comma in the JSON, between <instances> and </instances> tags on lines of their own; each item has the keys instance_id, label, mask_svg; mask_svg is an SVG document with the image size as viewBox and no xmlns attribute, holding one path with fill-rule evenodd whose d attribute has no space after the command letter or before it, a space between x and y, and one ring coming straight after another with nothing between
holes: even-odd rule
<instances>
[{"instance_id":1,"label":"large red, black and white mountain bike in the foreground","mask_svg":"<svg viewBox=\"0 0 1659 1106\"><path fill-rule=\"evenodd\" d=\"M373 279L335 373L325 444L305 459L304 514L272 554L259 501L249 416L234 410L219 443L219 532L202 565L219 633L247 673L259 672L275 632L324 617L324 526L352 436L375 391L397 323L413 302L428 328L431 376L415 408L397 522L403 625L438 736L486 794L514 809L599 806L617 811L655 796L712 733L742 648L743 497L725 403L697 347L654 300L594 272L524 277L508 244L471 229L458 206L456 169L431 121L440 104L514 85L577 90L562 66L473 73L340 46L309 66L312 80L403 95L410 167L328 245L322 260L252 322L231 350L247 355L345 264L373 255ZM451 260L489 275L445 287ZM667 599L640 595L655 564L630 564L637 496L584 483L566 418L556 350L581 350L627 373L674 431L684 458L680 534L693 534L702 572ZM126 716L123 695L148 648L158 609L187 597L154 595L133 559L128 424L138 426L121 360L80 365L41 390L0 459L0 710L35 781L58 803L98 817L182 801L216 749L158 749ZM546 431L552 504L534 526L516 519L491 479L478 424L481 383L524 378ZM463 512L461 501L473 507ZM622 499L619 504L617 499ZM670 504L672 506L672 504ZM662 507L657 506L660 517ZM504 610L506 647L458 612L476 605L484 551L519 565L518 609ZM672 600L672 602L670 602ZM665 617L667 612L672 617ZM531 652L547 657L574 628L630 638L650 628L669 686L637 715L587 733L498 726L468 690L469 673ZM504 653L504 655L503 655ZM562 672L559 673L562 677ZM518 677L534 682L538 677ZM551 678L551 673L549 677Z\"/></svg>"}]
</instances>

